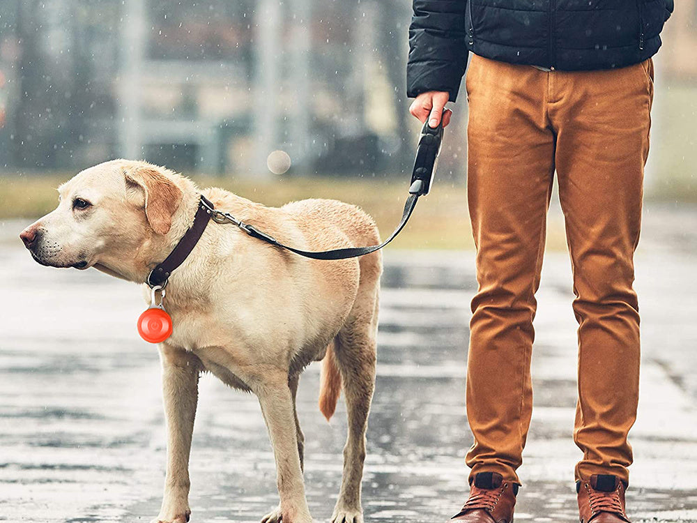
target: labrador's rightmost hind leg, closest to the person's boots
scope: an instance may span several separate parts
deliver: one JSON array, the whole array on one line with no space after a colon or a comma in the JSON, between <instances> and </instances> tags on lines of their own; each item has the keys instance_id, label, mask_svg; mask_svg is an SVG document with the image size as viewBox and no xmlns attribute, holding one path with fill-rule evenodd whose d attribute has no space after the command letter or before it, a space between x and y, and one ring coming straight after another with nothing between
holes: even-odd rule
<instances>
[{"instance_id":1,"label":"labrador's rightmost hind leg, closest to the person's boots","mask_svg":"<svg viewBox=\"0 0 697 523\"><path fill-rule=\"evenodd\" d=\"M360 503L365 432L375 388L377 292L358 304L337 335L337 364L342 374L348 436L344 446L344 473L332 523L362 523Z\"/></svg>"}]
</instances>

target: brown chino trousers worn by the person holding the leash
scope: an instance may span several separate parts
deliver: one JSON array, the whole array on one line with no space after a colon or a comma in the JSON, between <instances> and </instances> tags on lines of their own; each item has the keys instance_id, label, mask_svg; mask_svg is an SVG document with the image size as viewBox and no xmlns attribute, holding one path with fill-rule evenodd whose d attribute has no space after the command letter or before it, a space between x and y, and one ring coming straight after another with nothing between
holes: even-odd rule
<instances>
[{"instance_id":1,"label":"brown chino trousers worn by the person holding the leash","mask_svg":"<svg viewBox=\"0 0 697 523\"><path fill-rule=\"evenodd\" d=\"M472 301L467 416L470 477L519 483L533 409L535 291L556 170L579 321L576 480L628 481L639 315L633 256L641 225L653 64L564 72L473 56L468 203L479 291Z\"/></svg>"}]
</instances>

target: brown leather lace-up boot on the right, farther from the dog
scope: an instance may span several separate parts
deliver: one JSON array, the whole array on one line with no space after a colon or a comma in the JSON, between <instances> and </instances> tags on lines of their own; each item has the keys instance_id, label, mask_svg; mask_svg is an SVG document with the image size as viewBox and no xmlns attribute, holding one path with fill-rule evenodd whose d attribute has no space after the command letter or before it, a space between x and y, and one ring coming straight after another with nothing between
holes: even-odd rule
<instances>
[{"instance_id":1,"label":"brown leather lace-up boot on the right, farther from the dog","mask_svg":"<svg viewBox=\"0 0 697 523\"><path fill-rule=\"evenodd\" d=\"M629 523L625 514L625 483L611 474L593 474L577 481L581 523Z\"/></svg>"}]
</instances>

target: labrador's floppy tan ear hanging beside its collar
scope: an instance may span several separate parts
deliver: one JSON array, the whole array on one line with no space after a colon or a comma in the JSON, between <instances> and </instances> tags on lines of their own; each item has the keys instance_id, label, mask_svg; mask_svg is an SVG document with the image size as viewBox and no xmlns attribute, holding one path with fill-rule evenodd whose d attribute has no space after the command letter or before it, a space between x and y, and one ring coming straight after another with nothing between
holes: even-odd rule
<instances>
[{"instance_id":1,"label":"labrador's floppy tan ear hanging beside its collar","mask_svg":"<svg viewBox=\"0 0 697 523\"><path fill-rule=\"evenodd\" d=\"M157 234L167 234L172 216L181 204L182 192L169 177L153 166L133 167L124 172L126 185L136 185L145 196L145 215Z\"/></svg>"}]
</instances>

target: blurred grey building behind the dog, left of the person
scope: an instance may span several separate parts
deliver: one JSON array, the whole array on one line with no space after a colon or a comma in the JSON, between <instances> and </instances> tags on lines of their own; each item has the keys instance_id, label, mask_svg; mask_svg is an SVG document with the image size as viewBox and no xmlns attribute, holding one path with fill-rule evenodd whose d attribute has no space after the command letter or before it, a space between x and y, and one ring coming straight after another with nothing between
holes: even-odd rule
<instances>
[{"instance_id":1,"label":"blurred grey building behind the dog, left of the person","mask_svg":"<svg viewBox=\"0 0 697 523\"><path fill-rule=\"evenodd\" d=\"M282 149L296 172L376 172L411 156L404 2L0 3L7 167L261 174Z\"/></svg>"}]
</instances>

